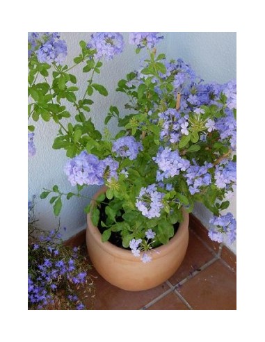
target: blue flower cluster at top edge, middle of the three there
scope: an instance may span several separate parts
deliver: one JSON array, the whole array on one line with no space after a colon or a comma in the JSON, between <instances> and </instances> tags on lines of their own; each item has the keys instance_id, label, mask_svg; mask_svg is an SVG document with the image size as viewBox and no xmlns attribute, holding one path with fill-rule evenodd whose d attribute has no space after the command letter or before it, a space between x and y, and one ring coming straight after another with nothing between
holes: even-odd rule
<instances>
[{"instance_id":1,"label":"blue flower cluster at top edge, middle of the three there","mask_svg":"<svg viewBox=\"0 0 265 342\"><path fill-rule=\"evenodd\" d=\"M88 42L88 48L97 50L95 57L112 59L118 55L124 48L123 37L118 32L97 32L91 35L91 40Z\"/></svg>"}]
</instances>

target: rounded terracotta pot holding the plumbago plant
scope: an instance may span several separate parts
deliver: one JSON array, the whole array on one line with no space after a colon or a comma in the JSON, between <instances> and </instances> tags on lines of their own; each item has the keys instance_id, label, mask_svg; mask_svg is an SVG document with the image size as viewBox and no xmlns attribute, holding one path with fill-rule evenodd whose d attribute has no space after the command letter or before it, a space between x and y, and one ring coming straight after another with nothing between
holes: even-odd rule
<instances>
[{"instance_id":1,"label":"rounded terracotta pot holding the plumbago plant","mask_svg":"<svg viewBox=\"0 0 265 342\"><path fill-rule=\"evenodd\" d=\"M106 188L101 188L94 199ZM95 202L94 202L95 203ZM129 250L124 250L109 242L102 243L102 234L93 225L88 214L86 245L90 260L99 275L107 282L127 291L143 291L154 288L170 278L179 268L188 246L188 213L183 211L184 221L177 234L166 245L152 252L152 261L143 263Z\"/></svg>"}]
</instances>

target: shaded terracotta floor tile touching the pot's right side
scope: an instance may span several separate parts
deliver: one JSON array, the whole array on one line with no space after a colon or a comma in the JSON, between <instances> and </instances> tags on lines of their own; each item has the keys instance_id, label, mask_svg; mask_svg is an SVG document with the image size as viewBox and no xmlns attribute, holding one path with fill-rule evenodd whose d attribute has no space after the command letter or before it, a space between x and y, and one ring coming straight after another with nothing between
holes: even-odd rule
<instances>
[{"instance_id":1,"label":"shaded terracotta floor tile touching the pot's right side","mask_svg":"<svg viewBox=\"0 0 265 342\"><path fill-rule=\"evenodd\" d=\"M188 249L182 261L182 265L179 267L175 275L169 280L172 285L177 284L182 279L186 278L195 270L200 269L204 263L207 263L214 258L214 254L210 252L207 247L197 238L197 236L190 230L188 239Z\"/></svg>"}]
</instances>

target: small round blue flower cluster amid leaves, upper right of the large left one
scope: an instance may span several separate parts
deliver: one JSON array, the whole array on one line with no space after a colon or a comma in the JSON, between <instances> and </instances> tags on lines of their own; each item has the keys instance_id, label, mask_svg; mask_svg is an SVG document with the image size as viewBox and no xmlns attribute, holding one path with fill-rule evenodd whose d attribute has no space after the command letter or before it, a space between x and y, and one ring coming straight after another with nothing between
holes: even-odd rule
<instances>
[{"instance_id":1,"label":"small round blue flower cluster amid leaves, upper right of the large left one","mask_svg":"<svg viewBox=\"0 0 265 342\"><path fill-rule=\"evenodd\" d=\"M134 136L123 136L113 142L112 152L117 156L128 157L131 161L137 158L139 150L143 151L143 145Z\"/></svg>"}]
</instances>

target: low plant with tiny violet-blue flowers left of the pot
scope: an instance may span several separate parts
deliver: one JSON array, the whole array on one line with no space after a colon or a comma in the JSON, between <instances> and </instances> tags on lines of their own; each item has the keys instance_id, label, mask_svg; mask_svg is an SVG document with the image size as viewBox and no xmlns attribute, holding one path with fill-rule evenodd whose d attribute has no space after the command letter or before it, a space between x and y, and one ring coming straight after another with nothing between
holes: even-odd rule
<instances>
[{"instance_id":1,"label":"low plant with tiny violet-blue flowers left of the pot","mask_svg":"<svg viewBox=\"0 0 265 342\"><path fill-rule=\"evenodd\" d=\"M35 225L33 202L28 202L28 307L30 310L93 309L95 287L90 265L79 248L67 247L58 229ZM80 295L81 294L81 295ZM89 299L90 307L80 300Z\"/></svg>"}]
</instances>

